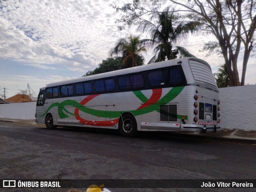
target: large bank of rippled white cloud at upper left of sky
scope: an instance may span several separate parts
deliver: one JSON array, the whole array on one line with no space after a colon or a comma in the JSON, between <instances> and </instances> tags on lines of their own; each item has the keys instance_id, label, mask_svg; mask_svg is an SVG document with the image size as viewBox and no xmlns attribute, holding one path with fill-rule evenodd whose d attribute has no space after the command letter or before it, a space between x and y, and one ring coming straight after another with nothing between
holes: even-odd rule
<instances>
[{"instance_id":1,"label":"large bank of rippled white cloud at upper left of sky","mask_svg":"<svg viewBox=\"0 0 256 192\"><path fill-rule=\"evenodd\" d=\"M114 45L109 35L124 33L117 30L107 1L13 0L0 7L0 57L34 67L94 69Z\"/></svg>"}]
</instances>

